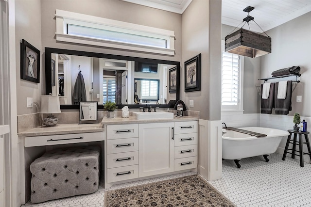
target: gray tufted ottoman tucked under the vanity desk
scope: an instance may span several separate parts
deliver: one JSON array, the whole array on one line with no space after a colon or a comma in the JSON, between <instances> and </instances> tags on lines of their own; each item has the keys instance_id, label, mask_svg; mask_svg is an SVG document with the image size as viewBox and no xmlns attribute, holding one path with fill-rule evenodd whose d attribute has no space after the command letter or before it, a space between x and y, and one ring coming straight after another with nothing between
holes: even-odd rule
<instances>
[{"instance_id":1,"label":"gray tufted ottoman tucked under the vanity desk","mask_svg":"<svg viewBox=\"0 0 311 207\"><path fill-rule=\"evenodd\" d=\"M31 202L93 193L99 186L100 147L57 149L30 165Z\"/></svg>"}]
</instances>

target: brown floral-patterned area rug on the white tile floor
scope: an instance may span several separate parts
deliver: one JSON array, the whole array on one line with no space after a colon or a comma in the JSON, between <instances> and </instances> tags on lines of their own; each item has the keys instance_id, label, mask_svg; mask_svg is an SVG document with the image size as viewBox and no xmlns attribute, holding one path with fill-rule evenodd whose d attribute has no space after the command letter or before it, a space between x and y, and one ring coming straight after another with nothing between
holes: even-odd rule
<instances>
[{"instance_id":1,"label":"brown floral-patterned area rug on the white tile floor","mask_svg":"<svg viewBox=\"0 0 311 207\"><path fill-rule=\"evenodd\" d=\"M107 191L104 207L235 207L199 175Z\"/></svg>"}]
</instances>

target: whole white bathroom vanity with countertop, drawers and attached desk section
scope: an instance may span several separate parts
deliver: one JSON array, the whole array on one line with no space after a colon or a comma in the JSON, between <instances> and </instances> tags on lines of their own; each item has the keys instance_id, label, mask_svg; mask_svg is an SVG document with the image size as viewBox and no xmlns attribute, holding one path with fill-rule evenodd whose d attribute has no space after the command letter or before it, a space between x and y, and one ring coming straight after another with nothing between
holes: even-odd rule
<instances>
[{"instance_id":1,"label":"whole white bathroom vanity with countertop, drawers and attached desk section","mask_svg":"<svg viewBox=\"0 0 311 207\"><path fill-rule=\"evenodd\" d=\"M148 177L196 170L198 118L103 118L99 124L59 124L18 134L22 203L30 196L29 166L57 147L100 145L104 188Z\"/></svg>"}]
</instances>

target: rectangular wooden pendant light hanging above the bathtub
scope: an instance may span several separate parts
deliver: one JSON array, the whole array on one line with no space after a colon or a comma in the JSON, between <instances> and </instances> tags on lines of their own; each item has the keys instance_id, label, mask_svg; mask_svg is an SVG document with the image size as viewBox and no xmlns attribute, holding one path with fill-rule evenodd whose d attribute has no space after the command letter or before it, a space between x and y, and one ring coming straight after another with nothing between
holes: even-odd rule
<instances>
[{"instance_id":1,"label":"rectangular wooden pendant light hanging above the bathtub","mask_svg":"<svg viewBox=\"0 0 311 207\"><path fill-rule=\"evenodd\" d=\"M248 6L245 9L243 9L244 12L248 13L248 15L245 18L243 18L242 23L245 22L243 26L247 23L249 27L250 21L255 22L254 17L249 15L249 12L251 12L253 9L254 7L252 6ZM247 56L251 58L256 58L256 57L271 53L271 37L266 32L264 32L261 29L261 27L259 27L258 24L257 26L267 36L259 34L257 32L252 32L250 31L250 29L245 30L243 29L243 26L238 31L233 32L238 28L236 27L232 31L233 33L230 32L230 34L228 34L225 37L225 51L226 52L230 52L230 53L234 53L234 54L238 54L242 56Z\"/></svg>"}]
</instances>

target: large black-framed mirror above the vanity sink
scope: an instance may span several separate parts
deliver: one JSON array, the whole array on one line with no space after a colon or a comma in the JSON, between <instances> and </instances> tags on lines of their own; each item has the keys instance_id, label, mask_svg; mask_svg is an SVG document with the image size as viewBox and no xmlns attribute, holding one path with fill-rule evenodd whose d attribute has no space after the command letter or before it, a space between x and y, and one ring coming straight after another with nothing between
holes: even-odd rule
<instances>
[{"instance_id":1,"label":"large black-framed mirror above the vanity sink","mask_svg":"<svg viewBox=\"0 0 311 207\"><path fill-rule=\"evenodd\" d=\"M176 93L169 91L172 68L176 68ZM60 96L61 109L79 109L74 100L81 76L86 91L83 101L97 101L98 109L109 100L119 109L146 104L173 108L179 100L180 62L45 48L45 91Z\"/></svg>"}]
</instances>

